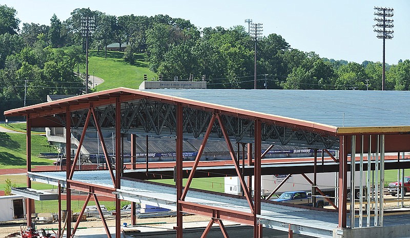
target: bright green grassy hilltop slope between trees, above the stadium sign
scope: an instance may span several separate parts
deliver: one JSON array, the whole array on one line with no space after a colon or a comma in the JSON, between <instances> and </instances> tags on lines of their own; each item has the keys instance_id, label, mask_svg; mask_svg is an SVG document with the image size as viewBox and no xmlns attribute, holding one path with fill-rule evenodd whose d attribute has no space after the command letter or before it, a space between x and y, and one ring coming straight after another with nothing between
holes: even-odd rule
<instances>
[{"instance_id":1,"label":"bright green grassy hilltop slope between trees, above the stadium sign","mask_svg":"<svg viewBox=\"0 0 410 238\"><path fill-rule=\"evenodd\" d=\"M122 59L123 52L107 53L104 58L104 51L90 51L88 73L92 82L93 73L95 76L104 79L104 83L97 86L97 91L126 87L138 89L139 84L144 81L144 74L148 79L155 77L155 74L148 69L148 62L145 61L144 54L136 54L133 65ZM85 73L85 66L81 69ZM92 87L91 87L92 88Z\"/></svg>"}]
</instances>

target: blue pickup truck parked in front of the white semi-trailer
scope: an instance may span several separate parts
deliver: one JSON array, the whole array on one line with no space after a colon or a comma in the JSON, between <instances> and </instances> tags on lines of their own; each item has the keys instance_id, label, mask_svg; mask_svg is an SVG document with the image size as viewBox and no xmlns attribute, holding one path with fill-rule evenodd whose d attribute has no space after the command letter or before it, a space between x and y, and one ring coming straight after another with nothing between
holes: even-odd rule
<instances>
[{"instance_id":1,"label":"blue pickup truck parked in front of the white semi-trailer","mask_svg":"<svg viewBox=\"0 0 410 238\"><path fill-rule=\"evenodd\" d=\"M305 191L289 191L283 192L279 198L274 199L275 202L282 202L282 203L290 203L290 204L297 204L303 206L312 206L312 196L308 196L308 193ZM316 203L314 204L315 207L323 208L324 206L329 205L328 201L320 197L316 197Z\"/></svg>"}]
</instances>

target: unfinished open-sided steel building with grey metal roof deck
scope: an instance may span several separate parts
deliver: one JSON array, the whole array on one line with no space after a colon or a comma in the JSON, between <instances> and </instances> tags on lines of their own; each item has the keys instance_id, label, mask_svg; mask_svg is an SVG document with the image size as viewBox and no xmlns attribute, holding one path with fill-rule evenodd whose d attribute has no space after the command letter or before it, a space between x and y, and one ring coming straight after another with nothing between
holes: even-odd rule
<instances>
[{"instance_id":1,"label":"unfinished open-sided steel building with grey metal roof deck","mask_svg":"<svg viewBox=\"0 0 410 238\"><path fill-rule=\"evenodd\" d=\"M387 195L384 174L397 170L398 181L404 181L410 167L409 96L404 91L117 88L6 111L7 118L27 119L27 187L13 189L27 198L28 228L22 233L36 236L33 200L58 200L58 210L65 212L55 217L57 231L38 235L75 237L93 200L108 237L138 235L137 210L151 208L174 212L172 236L178 238L191 237L187 214L208 219L193 237L206 237L215 224L223 237L235 236L228 224L243 225L238 229L251 237L271 230L288 237L407 237L406 190L397 184L389 188L396 189L390 190L395 196ZM49 140L61 147L53 171L32 169L34 127L46 127ZM329 173L332 186L324 187L321 176ZM262 178L269 176L280 179L264 185ZM225 193L190 188L194 178L213 177L236 182ZM312 204L322 199L328 205L272 201L296 178L309 184ZM174 179L175 185L148 181L153 179ZM54 185L58 192L32 189L32 181ZM71 203L61 205L62 191L67 201L76 192L86 198L75 222ZM102 197L115 201L114 231L98 205ZM121 207L121 201L130 207ZM130 214L126 222L121 210Z\"/></svg>"}]
</instances>

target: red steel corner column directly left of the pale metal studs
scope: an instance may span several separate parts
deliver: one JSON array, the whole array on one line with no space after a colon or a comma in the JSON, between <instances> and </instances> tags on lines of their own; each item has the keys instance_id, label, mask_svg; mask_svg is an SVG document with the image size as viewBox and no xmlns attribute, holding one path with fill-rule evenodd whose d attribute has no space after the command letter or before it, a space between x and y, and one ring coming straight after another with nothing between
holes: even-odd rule
<instances>
[{"instance_id":1,"label":"red steel corner column directly left of the pale metal studs","mask_svg":"<svg viewBox=\"0 0 410 238\"><path fill-rule=\"evenodd\" d=\"M345 136L340 136L339 146L339 228L346 228L347 224L347 147Z\"/></svg>"}]
</instances>

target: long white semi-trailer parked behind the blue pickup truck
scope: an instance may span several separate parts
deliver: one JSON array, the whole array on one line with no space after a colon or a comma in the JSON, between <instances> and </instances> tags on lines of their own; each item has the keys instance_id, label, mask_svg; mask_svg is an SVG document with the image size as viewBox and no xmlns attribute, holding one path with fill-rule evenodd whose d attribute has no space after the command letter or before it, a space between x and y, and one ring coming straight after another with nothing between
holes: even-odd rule
<instances>
[{"instance_id":1,"label":"long white semi-trailer parked behind the blue pickup truck","mask_svg":"<svg viewBox=\"0 0 410 238\"><path fill-rule=\"evenodd\" d=\"M261 195L269 196L279 184L285 180L288 175L263 175L261 176ZM314 181L314 174L305 174L312 182ZM365 172L362 174L362 186L365 185ZM253 178L252 178L253 181ZM225 177L225 193L240 195L240 181L238 177ZM248 183L248 178L245 178L245 182ZM326 195L334 197L335 189L338 187L337 172L323 172L316 174L317 187L323 191ZM347 186L350 184L350 172L347 172ZM360 187L360 171L355 172L355 187ZM285 191L312 191L312 185L302 175L292 175L282 184L282 186L275 192L275 194L281 194ZM252 194L254 189L252 188ZM350 197L350 194L348 194ZM356 196L357 197L357 196Z\"/></svg>"}]
</instances>

